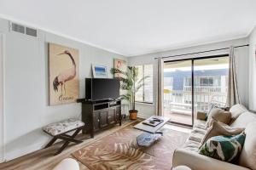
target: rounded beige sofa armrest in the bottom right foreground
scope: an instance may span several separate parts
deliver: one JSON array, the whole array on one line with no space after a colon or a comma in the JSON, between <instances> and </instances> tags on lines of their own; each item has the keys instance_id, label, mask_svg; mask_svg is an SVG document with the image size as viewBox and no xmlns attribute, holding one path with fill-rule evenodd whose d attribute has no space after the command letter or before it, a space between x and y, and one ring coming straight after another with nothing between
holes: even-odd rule
<instances>
[{"instance_id":1,"label":"rounded beige sofa armrest in the bottom right foreground","mask_svg":"<svg viewBox=\"0 0 256 170\"><path fill-rule=\"evenodd\" d=\"M177 167L180 165L188 166L192 170L250 170L247 167L219 161L185 149L177 149L173 154L172 166Z\"/></svg>"}]
</instances>

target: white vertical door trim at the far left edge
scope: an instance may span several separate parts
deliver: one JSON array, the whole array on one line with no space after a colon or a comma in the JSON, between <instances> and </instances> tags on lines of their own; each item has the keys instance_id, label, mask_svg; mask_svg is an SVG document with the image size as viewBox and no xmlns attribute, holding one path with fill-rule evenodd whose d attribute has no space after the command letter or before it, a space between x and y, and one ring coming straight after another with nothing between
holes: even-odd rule
<instances>
[{"instance_id":1,"label":"white vertical door trim at the far left edge","mask_svg":"<svg viewBox=\"0 0 256 170\"><path fill-rule=\"evenodd\" d=\"M5 37L0 32L0 163L5 161L4 147L4 56L5 56Z\"/></svg>"}]
</instances>

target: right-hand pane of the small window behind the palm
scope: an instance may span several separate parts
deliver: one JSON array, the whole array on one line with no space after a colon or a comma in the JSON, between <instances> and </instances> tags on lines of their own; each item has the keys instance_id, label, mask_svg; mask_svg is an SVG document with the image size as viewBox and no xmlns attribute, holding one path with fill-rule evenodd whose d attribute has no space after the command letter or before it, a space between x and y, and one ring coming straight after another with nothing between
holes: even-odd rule
<instances>
[{"instance_id":1,"label":"right-hand pane of the small window behind the palm","mask_svg":"<svg viewBox=\"0 0 256 170\"><path fill-rule=\"evenodd\" d=\"M153 103L153 65L144 65L144 101Z\"/></svg>"}]
</instances>

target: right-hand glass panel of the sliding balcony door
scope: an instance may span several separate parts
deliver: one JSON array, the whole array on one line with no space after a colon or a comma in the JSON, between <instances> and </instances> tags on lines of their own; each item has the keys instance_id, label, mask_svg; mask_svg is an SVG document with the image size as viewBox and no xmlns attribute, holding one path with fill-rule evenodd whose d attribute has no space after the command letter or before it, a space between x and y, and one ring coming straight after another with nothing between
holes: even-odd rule
<instances>
[{"instance_id":1,"label":"right-hand glass panel of the sliding balcony door","mask_svg":"<svg viewBox=\"0 0 256 170\"><path fill-rule=\"evenodd\" d=\"M226 104L228 74L229 57L194 60L194 100L197 111L209 111L212 105L222 107Z\"/></svg>"}]
</instances>

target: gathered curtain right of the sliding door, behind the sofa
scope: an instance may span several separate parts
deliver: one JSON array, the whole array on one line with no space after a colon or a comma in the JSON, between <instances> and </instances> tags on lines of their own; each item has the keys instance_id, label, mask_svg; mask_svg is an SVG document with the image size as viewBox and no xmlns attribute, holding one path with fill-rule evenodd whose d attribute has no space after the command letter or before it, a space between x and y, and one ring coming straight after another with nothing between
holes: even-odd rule
<instances>
[{"instance_id":1,"label":"gathered curtain right of the sliding door, behind the sofa","mask_svg":"<svg viewBox=\"0 0 256 170\"><path fill-rule=\"evenodd\" d=\"M234 47L230 47L230 69L228 79L228 96L226 106L231 107L240 103L237 79L236 79L236 56L234 54Z\"/></svg>"}]
</instances>

